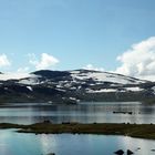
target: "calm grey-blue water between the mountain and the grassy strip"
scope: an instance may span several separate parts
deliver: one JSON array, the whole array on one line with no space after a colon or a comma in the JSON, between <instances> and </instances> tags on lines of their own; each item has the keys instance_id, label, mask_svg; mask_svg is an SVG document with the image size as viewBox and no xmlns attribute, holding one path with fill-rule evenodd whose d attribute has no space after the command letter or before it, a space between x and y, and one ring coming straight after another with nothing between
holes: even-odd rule
<instances>
[{"instance_id":1,"label":"calm grey-blue water between the mountain and the grassy strip","mask_svg":"<svg viewBox=\"0 0 155 155\"><path fill-rule=\"evenodd\" d=\"M113 112L132 112L114 114ZM140 102L94 103L78 105L50 105L17 103L0 106L0 122L32 124L51 120L53 123L155 123L155 105L145 106Z\"/></svg>"}]
</instances>

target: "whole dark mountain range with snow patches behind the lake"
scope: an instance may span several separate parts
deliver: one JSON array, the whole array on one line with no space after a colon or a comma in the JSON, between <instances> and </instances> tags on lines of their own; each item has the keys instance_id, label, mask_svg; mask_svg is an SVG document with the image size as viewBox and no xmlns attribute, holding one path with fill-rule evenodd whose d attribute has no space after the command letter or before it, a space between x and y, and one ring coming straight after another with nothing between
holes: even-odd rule
<instances>
[{"instance_id":1,"label":"whole dark mountain range with snow patches behind the lake","mask_svg":"<svg viewBox=\"0 0 155 155\"><path fill-rule=\"evenodd\" d=\"M20 96L21 102L137 101L155 95L155 83L108 72L42 70L22 78L4 76L0 75L0 99Z\"/></svg>"}]
</instances>

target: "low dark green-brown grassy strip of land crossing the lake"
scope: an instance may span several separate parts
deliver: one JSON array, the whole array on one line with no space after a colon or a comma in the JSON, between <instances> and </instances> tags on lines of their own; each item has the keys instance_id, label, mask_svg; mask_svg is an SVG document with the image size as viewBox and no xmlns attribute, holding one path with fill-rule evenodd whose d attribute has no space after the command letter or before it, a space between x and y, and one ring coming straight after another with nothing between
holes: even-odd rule
<instances>
[{"instance_id":1,"label":"low dark green-brown grassy strip of land crossing the lake","mask_svg":"<svg viewBox=\"0 0 155 155\"><path fill-rule=\"evenodd\" d=\"M0 128L19 128L18 132L35 134L105 134L105 135L127 135L132 137L155 140L154 124L80 124L80 123L37 123L32 125L18 125L1 123Z\"/></svg>"}]
</instances>

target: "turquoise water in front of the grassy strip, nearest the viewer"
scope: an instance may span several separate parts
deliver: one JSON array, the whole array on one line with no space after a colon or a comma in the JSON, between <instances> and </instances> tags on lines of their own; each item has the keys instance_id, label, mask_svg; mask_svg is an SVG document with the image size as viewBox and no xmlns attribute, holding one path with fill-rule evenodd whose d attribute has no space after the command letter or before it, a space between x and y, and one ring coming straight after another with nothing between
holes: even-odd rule
<instances>
[{"instance_id":1,"label":"turquoise water in front of the grassy strip, nearest the viewer","mask_svg":"<svg viewBox=\"0 0 155 155\"><path fill-rule=\"evenodd\" d=\"M141 148L141 149L138 149ZM117 149L132 149L135 155L154 155L155 141L125 136L83 134L22 134L0 131L1 155L113 155Z\"/></svg>"}]
</instances>

